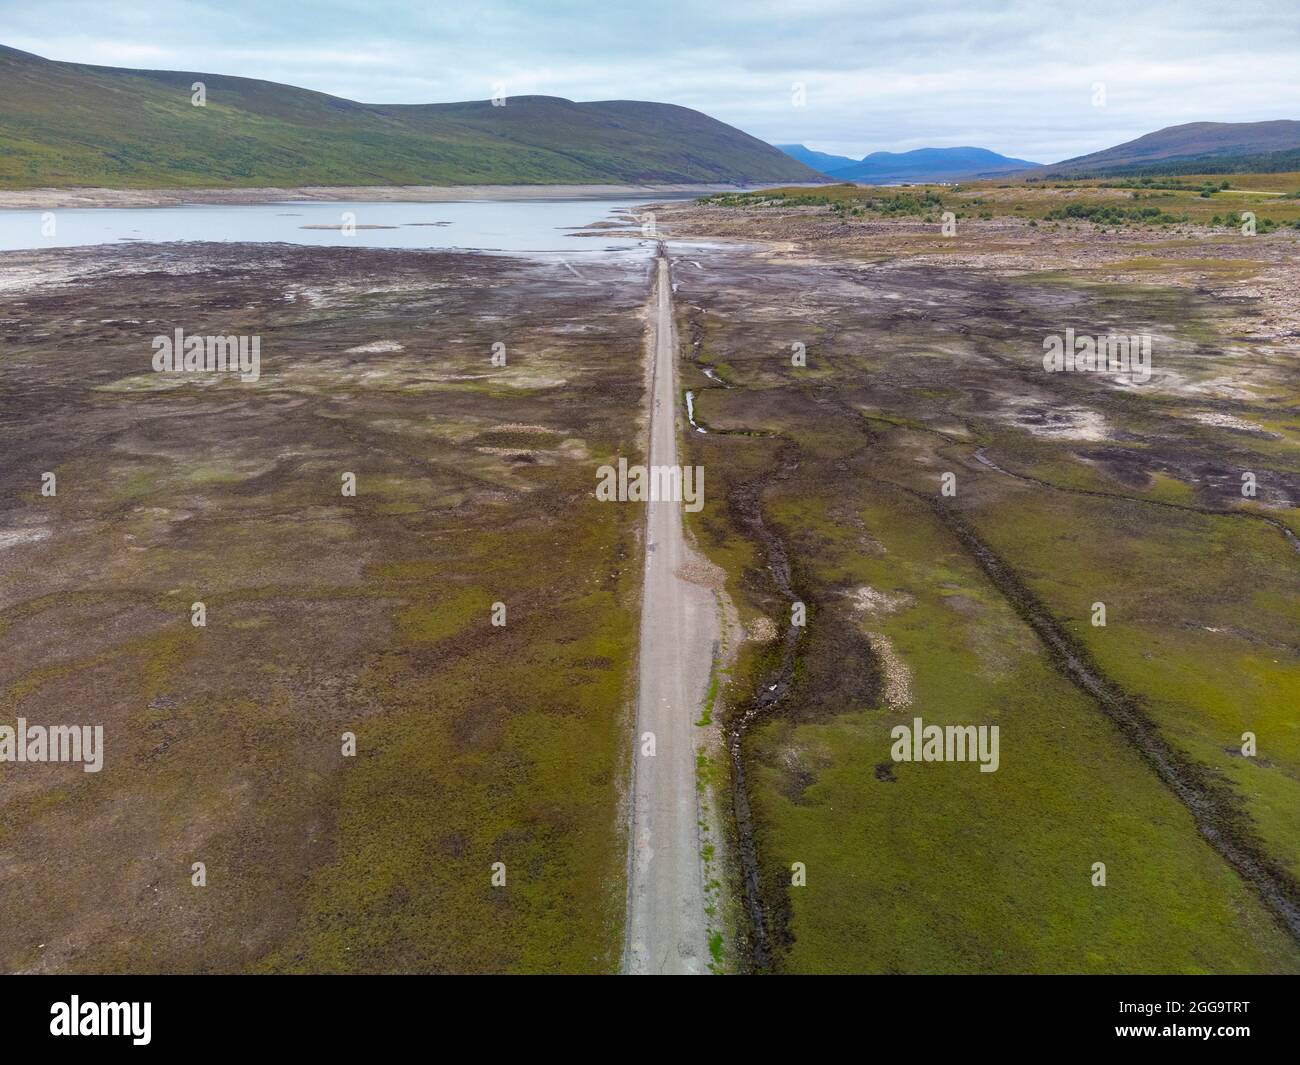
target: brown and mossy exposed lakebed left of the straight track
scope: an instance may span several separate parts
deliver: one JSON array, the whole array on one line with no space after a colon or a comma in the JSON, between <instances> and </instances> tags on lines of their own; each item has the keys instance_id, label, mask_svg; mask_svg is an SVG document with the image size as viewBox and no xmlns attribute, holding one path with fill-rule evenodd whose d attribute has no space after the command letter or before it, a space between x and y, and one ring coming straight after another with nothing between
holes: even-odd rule
<instances>
[{"instance_id":1,"label":"brown and mossy exposed lakebed left of the straight track","mask_svg":"<svg viewBox=\"0 0 1300 1065\"><path fill-rule=\"evenodd\" d=\"M641 533L592 485L636 446L649 263L3 273L0 720L105 757L0 767L0 969L615 967ZM260 337L260 380L152 372L178 326Z\"/></svg>"}]
</instances>

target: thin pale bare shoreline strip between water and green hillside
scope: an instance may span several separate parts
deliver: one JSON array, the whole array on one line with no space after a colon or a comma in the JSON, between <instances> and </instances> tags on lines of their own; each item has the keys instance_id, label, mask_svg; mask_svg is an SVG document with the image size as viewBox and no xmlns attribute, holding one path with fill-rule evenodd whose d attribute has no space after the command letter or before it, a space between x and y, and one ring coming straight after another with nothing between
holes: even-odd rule
<instances>
[{"instance_id":1,"label":"thin pale bare shoreline strip between water and green hillside","mask_svg":"<svg viewBox=\"0 0 1300 1065\"><path fill-rule=\"evenodd\" d=\"M179 207L295 200L450 203L456 200L601 200L693 196L736 185L304 185L292 189L0 189L0 208Z\"/></svg>"}]
</instances>

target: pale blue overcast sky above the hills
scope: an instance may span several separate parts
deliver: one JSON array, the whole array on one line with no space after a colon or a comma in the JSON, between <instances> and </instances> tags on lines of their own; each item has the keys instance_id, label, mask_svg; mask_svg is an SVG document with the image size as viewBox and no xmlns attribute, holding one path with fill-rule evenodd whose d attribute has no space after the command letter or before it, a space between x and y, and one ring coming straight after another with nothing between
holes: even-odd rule
<instances>
[{"instance_id":1,"label":"pale blue overcast sky above the hills","mask_svg":"<svg viewBox=\"0 0 1300 1065\"><path fill-rule=\"evenodd\" d=\"M1053 163L1179 122L1300 118L1296 0L0 0L0 43L367 103L498 82L662 100L854 157L974 144Z\"/></svg>"}]
</instances>

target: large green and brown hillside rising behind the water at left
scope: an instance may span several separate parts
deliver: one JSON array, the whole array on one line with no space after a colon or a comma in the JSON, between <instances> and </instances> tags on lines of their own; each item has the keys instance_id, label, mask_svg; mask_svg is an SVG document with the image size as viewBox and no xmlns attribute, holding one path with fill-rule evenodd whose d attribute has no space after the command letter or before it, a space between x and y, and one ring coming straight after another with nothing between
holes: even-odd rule
<instances>
[{"instance_id":1,"label":"large green and brown hillside rising behind the water at left","mask_svg":"<svg viewBox=\"0 0 1300 1065\"><path fill-rule=\"evenodd\" d=\"M207 105L194 107L202 81ZM672 104L359 104L274 82L56 62L0 46L0 187L815 181Z\"/></svg>"}]
</instances>

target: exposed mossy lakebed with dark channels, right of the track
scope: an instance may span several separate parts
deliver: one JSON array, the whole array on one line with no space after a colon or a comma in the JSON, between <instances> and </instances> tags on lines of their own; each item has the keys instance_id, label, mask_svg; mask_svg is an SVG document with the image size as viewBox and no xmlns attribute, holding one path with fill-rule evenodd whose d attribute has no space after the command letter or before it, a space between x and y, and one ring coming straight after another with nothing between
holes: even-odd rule
<instances>
[{"instance_id":1,"label":"exposed mossy lakebed with dark channels, right of the track","mask_svg":"<svg viewBox=\"0 0 1300 1065\"><path fill-rule=\"evenodd\" d=\"M1295 237L654 209L733 242L675 273L697 536L745 624L807 610L728 690L750 962L1300 967ZM1150 380L1045 372L1067 328ZM916 717L1000 769L896 762Z\"/></svg>"}]
</instances>

